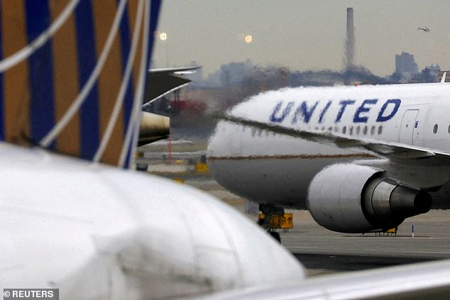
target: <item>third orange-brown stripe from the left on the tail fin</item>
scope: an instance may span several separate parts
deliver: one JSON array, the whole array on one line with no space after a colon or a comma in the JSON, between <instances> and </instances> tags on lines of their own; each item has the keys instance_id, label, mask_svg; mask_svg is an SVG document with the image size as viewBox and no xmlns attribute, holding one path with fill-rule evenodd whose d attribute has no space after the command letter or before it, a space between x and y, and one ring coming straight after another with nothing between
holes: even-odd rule
<instances>
[{"instance_id":1,"label":"third orange-brown stripe from the left on the tail fin","mask_svg":"<svg viewBox=\"0 0 450 300\"><path fill-rule=\"evenodd\" d=\"M116 15L116 0L93 1L95 39L97 45L97 57L104 49L106 39L111 30L114 16ZM109 52L106 64L99 77L99 123L101 138L103 138L106 126L114 109L114 104L121 86L121 48L119 44L119 32L114 38L114 43ZM116 165L119 162L121 145L124 141L124 116L119 114L114 126L111 139L106 147L101 162Z\"/></svg>"}]
</instances>

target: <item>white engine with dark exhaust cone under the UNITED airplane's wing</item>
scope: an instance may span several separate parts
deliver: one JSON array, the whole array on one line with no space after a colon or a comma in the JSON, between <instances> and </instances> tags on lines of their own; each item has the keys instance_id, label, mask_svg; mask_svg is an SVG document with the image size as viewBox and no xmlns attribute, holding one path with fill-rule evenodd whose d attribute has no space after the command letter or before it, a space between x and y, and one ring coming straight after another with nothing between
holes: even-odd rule
<instances>
[{"instance_id":1,"label":"white engine with dark exhaust cone under the UNITED airplane's wing","mask_svg":"<svg viewBox=\"0 0 450 300\"><path fill-rule=\"evenodd\" d=\"M397 227L405 218L429 211L432 198L427 192L404 187L383 174L354 164L326 167L309 184L309 212L329 230L367 233Z\"/></svg>"}]
</instances>

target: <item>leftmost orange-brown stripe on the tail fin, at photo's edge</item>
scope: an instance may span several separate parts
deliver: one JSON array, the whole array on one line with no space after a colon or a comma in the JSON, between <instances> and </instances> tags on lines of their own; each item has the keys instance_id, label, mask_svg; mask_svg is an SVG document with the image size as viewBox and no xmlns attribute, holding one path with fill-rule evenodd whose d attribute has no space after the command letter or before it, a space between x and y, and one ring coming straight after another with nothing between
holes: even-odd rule
<instances>
[{"instance_id":1,"label":"leftmost orange-brown stripe on the tail fin, at photo's edge","mask_svg":"<svg viewBox=\"0 0 450 300\"><path fill-rule=\"evenodd\" d=\"M1 35L3 57L9 57L27 45L26 16L23 1L1 1ZM29 136L28 61L24 60L4 72L5 139L24 144L23 135Z\"/></svg>"}]
</instances>

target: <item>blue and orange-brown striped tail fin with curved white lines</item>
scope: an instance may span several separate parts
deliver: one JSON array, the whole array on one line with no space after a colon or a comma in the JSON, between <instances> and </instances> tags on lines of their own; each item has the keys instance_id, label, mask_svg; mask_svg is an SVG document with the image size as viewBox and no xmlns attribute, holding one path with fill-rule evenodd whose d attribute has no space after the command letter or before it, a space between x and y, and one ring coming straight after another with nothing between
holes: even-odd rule
<instances>
[{"instance_id":1,"label":"blue and orange-brown striped tail fin with curved white lines","mask_svg":"<svg viewBox=\"0 0 450 300\"><path fill-rule=\"evenodd\" d=\"M0 140L129 167L160 0L0 0Z\"/></svg>"}]
</instances>

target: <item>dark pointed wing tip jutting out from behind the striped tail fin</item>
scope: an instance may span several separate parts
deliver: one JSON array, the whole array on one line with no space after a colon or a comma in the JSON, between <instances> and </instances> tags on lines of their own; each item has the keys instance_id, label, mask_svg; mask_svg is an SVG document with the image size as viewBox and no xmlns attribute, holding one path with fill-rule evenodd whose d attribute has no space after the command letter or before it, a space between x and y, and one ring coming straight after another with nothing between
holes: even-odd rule
<instances>
[{"instance_id":1,"label":"dark pointed wing tip jutting out from behind the striped tail fin","mask_svg":"<svg viewBox=\"0 0 450 300\"><path fill-rule=\"evenodd\" d=\"M190 79L181 77L182 74L192 74L200 67L172 67L162 69L150 69L143 104L160 99L172 91L181 89L189 84Z\"/></svg>"}]
</instances>

